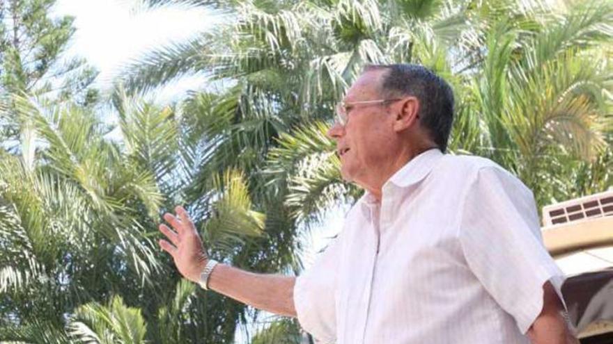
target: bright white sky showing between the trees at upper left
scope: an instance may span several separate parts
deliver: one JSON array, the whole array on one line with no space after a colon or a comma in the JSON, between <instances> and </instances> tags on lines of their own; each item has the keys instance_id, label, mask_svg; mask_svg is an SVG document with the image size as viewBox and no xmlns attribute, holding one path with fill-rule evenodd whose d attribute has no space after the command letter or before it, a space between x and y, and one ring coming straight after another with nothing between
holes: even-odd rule
<instances>
[{"instance_id":1,"label":"bright white sky showing between the trees at upper left","mask_svg":"<svg viewBox=\"0 0 613 344\"><path fill-rule=\"evenodd\" d=\"M77 32L68 54L88 60L100 70L96 85L104 89L118 69L152 47L177 42L218 20L203 8L144 10L138 0L58 0L58 15L75 17ZM203 77L182 79L165 88L158 99L201 88Z\"/></svg>"}]
</instances>

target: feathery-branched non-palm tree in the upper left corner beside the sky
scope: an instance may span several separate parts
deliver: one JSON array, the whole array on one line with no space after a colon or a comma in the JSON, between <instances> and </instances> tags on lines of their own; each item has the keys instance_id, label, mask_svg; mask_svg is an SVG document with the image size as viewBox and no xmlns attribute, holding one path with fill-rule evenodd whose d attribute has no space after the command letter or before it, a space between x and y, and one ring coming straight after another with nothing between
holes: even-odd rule
<instances>
[{"instance_id":1,"label":"feathery-branched non-palm tree in the upper left corner beside the sky","mask_svg":"<svg viewBox=\"0 0 613 344\"><path fill-rule=\"evenodd\" d=\"M72 17L53 17L56 0L0 1L0 104L7 95L26 92L54 101L91 106L97 75L82 58L63 56L75 33ZM11 113L0 119L0 138L14 140L22 129Z\"/></svg>"}]
</instances>

